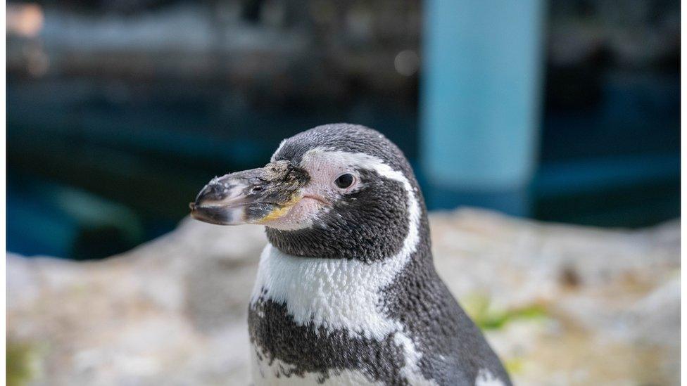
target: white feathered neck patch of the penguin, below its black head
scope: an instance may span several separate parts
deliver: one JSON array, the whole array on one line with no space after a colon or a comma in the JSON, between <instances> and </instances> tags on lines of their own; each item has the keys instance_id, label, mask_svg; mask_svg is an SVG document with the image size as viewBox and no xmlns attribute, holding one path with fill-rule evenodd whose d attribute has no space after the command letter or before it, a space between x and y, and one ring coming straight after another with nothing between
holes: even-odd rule
<instances>
[{"instance_id":1,"label":"white feathered neck patch of the penguin, below its black head","mask_svg":"<svg viewBox=\"0 0 687 386\"><path fill-rule=\"evenodd\" d=\"M420 266L432 266L426 217L418 223L423 225L416 243L374 262L294 256L270 242L260 257L251 307L283 304L296 325L348 330L377 340L403 330L401 321L381 311L379 304L399 275L412 276Z\"/></svg>"}]
</instances>

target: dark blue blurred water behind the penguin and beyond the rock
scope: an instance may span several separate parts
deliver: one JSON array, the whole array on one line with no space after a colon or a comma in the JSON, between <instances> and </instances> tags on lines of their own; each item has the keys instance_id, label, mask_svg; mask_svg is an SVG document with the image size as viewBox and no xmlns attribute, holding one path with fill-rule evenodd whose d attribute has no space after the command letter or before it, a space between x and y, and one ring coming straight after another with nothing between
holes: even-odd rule
<instances>
[{"instance_id":1,"label":"dark blue blurred water behind the penguin and beyond the rock","mask_svg":"<svg viewBox=\"0 0 687 386\"><path fill-rule=\"evenodd\" d=\"M8 79L7 247L76 259L123 252L173 229L216 174L264 165L281 139L324 122L389 136L415 166L430 209L655 224L680 212L676 79L610 78L593 108L547 108L534 181L504 192L426 181L417 108L393 96L272 103L222 86Z\"/></svg>"}]
</instances>

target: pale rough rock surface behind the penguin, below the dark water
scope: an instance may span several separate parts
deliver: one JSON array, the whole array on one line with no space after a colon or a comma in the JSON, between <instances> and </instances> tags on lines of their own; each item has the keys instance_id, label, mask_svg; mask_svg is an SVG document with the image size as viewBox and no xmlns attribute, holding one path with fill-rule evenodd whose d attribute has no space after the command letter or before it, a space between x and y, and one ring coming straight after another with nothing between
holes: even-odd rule
<instances>
[{"instance_id":1,"label":"pale rough rock surface behind the penguin, below the dark water","mask_svg":"<svg viewBox=\"0 0 687 386\"><path fill-rule=\"evenodd\" d=\"M680 224L430 215L439 274L517 385L677 385ZM258 226L185 219L100 262L7 257L8 371L30 385L248 385Z\"/></svg>"}]
</instances>

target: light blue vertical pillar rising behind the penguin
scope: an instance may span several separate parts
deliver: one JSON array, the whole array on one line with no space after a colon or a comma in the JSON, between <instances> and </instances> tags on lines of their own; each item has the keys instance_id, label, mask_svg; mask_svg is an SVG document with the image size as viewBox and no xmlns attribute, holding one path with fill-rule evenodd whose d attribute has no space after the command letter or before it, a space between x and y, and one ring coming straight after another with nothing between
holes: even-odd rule
<instances>
[{"instance_id":1,"label":"light blue vertical pillar rising behind the penguin","mask_svg":"<svg viewBox=\"0 0 687 386\"><path fill-rule=\"evenodd\" d=\"M528 214L543 11L542 0L425 4L421 160L431 206Z\"/></svg>"}]
</instances>

